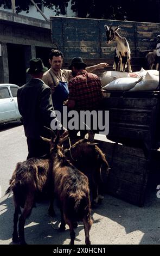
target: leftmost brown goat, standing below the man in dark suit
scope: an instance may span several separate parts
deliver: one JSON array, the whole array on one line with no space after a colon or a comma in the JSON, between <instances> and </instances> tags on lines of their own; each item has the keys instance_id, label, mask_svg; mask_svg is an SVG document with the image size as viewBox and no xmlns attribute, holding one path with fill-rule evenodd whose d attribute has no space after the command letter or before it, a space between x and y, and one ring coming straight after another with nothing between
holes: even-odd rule
<instances>
[{"instance_id":1,"label":"leftmost brown goat, standing below the man in dark suit","mask_svg":"<svg viewBox=\"0 0 160 256\"><path fill-rule=\"evenodd\" d=\"M50 196L53 196L52 169L52 154L49 159L31 158L27 161L17 163L10 180L10 186L6 191L6 194L11 191L14 194L15 213L12 241L20 241L22 245L26 244L24 237L25 220L31 214L37 193L48 191ZM22 214L21 208L24 208ZM17 232L19 214L21 216L19 218ZM54 214L52 203L49 207L49 214L52 216Z\"/></svg>"}]
</instances>

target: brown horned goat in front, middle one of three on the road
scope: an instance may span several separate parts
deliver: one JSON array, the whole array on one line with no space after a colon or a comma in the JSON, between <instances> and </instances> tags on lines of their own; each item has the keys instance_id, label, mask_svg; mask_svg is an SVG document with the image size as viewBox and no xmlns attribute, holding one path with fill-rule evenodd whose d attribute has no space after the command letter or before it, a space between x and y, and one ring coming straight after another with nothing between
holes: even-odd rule
<instances>
[{"instance_id":1,"label":"brown horned goat in front, middle one of three on the road","mask_svg":"<svg viewBox=\"0 0 160 256\"><path fill-rule=\"evenodd\" d=\"M53 179L54 192L59 200L61 211L60 230L65 230L66 224L69 225L71 245L74 245L76 222L83 221L85 243L90 245L89 230L92 220L88 179L66 159L62 149L62 143L65 139L60 139L59 135L54 141L44 138L51 145L54 144Z\"/></svg>"}]
</instances>

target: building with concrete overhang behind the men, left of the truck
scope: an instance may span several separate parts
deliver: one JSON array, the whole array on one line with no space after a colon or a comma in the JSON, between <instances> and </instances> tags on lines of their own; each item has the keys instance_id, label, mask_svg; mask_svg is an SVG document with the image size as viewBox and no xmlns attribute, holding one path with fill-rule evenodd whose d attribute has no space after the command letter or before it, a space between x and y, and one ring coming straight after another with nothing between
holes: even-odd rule
<instances>
[{"instance_id":1,"label":"building with concrete overhang behind the men, left of the truck","mask_svg":"<svg viewBox=\"0 0 160 256\"><path fill-rule=\"evenodd\" d=\"M0 83L19 86L29 79L25 69L30 58L42 57L48 63L49 51L54 47L49 22L6 11L0 11L0 44Z\"/></svg>"}]
</instances>

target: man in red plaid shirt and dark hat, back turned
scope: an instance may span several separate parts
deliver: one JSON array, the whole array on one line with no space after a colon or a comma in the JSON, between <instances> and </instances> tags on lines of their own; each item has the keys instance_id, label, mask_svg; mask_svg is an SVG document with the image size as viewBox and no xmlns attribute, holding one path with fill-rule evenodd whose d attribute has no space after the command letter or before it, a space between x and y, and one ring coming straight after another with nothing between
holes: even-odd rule
<instances>
[{"instance_id":1,"label":"man in red plaid shirt and dark hat, back turned","mask_svg":"<svg viewBox=\"0 0 160 256\"><path fill-rule=\"evenodd\" d=\"M74 77L68 83L69 96L66 105L78 112L99 110L103 99L100 78L88 73L86 66L82 58L73 58L69 66Z\"/></svg>"}]
</instances>

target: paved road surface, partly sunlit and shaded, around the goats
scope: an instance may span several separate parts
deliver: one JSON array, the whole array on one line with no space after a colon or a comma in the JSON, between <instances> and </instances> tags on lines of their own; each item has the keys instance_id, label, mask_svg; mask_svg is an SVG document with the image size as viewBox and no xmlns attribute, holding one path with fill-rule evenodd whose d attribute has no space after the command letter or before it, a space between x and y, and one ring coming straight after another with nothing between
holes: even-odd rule
<instances>
[{"instance_id":1,"label":"paved road surface, partly sunlit and shaded, around the goats","mask_svg":"<svg viewBox=\"0 0 160 256\"><path fill-rule=\"evenodd\" d=\"M22 125L5 125L0 128L0 152L3 196L16 163L25 160L27 156ZM6 198L0 199L0 245L12 244L14 205L11 196ZM52 223L47 208L48 202L43 202L33 209L25 225L26 241L37 245L67 245L68 228L63 233L57 230L60 223L59 210L56 209ZM106 195L99 208L92 210L92 216L94 223L90 236L93 245L160 244L160 199L156 197L156 190L148 194L143 208ZM83 245L85 235L82 223L79 223L75 231L75 244Z\"/></svg>"}]
</instances>

